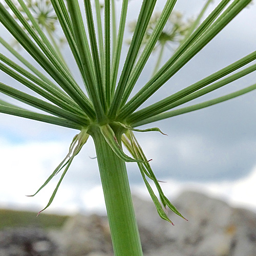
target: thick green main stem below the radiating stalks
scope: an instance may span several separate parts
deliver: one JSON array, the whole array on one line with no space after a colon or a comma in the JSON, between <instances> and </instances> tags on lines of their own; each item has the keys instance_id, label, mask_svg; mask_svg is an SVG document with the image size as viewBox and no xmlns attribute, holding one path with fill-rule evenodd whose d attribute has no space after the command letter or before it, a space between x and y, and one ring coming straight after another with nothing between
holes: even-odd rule
<instances>
[{"instance_id":1,"label":"thick green main stem below the radiating stalks","mask_svg":"<svg viewBox=\"0 0 256 256\"><path fill-rule=\"evenodd\" d=\"M99 129L93 137L115 256L143 256L125 163Z\"/></svg>"}]
</instances>

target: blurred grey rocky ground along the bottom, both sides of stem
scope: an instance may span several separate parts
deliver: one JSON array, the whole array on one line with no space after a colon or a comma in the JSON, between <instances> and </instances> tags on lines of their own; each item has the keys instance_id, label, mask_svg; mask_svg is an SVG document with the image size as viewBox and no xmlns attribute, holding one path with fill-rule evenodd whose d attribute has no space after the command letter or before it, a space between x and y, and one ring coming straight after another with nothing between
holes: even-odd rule
<instances>
[{"instance_id":1,"label":"blurred grey rocky ground along the bottom, both sides of stem","mask_svg":"<svg viewBox=\"0 0 256 256\"><path fill-rule=\"evenodd\" d=\"M161 220L152 202L134 197L144 256L255 256L256 214L193 191L174 202L188 219ZM58 230L0 231L0 256L113 256L106 217L69 218ZM132 255L131 255L132 256Z\"/></svg>"}]
</instances>

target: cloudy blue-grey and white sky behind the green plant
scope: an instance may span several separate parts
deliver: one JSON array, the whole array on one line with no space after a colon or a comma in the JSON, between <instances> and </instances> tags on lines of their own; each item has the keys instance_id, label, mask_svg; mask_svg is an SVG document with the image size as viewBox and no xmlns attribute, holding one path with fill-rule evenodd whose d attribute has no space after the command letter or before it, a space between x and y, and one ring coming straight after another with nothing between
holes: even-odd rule
<instances>
[{"instance_id":1,"label":"cloudy blue-grey and white sky behind the green plant","mask_svg":"<svg viewBox=\"0 0 256 256\"><path fill-rule=\"evenodd\" d=\"M156 10L161 10L164 2L158 1ZM195 17L204 3L201 0L177 2L175 9L186 17ZM214 1L209 11L217 3L219 1ZM136 17L139 5L140 1L131 1L129 20ZM118 6L117 11L119 9ZM255 13L255 4L240 13L146 104L189 86L254 51ZM0 32L8 36L3 27ZM129 36L126 32L125 37ZM127 46L123 49L123 60L126 49ZM65 56L70 56L67 49L63 51ZM2 46L0 52L6 53ZM171 54L165 49L163 63ZM136 90L148 80L148 70L153 69L156 56L157 52L148 61ZM20 88L2 72L0 80ZM252 73L199 101L236 91L255 81L255 73ZM151 165L157 178L165 181L162 186L171 201L180 191L194 189L256 211L255 97L256 91L204 110L141 126L157 126L168 135L137 133L137 138L146 156L153 159ZM0 98L5 96L0 94ZM40 210L48 203L58 177L34 198L25 195L33 194L65 158L77 131L4 114L0 114L0 124L0 207ZM89 139L72 163L48 212L104 212L97 160L92 159L95 156L93 141ZM128 163L127 170L133 193L148 199L137 165Z\"/></svg>"}]
</instances>

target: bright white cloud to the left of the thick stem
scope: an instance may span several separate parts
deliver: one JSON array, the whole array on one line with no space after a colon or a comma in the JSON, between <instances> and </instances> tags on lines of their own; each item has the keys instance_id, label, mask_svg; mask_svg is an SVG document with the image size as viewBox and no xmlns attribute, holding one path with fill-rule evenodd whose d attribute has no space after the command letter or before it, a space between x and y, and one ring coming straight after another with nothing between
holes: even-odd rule
<instances>
[{"instance_id":1,"label":"bright white cloud to the left of the thick stem","mask_svg":"<svg viewBox=\"0 0 256 256\"><path fill-rule=\"evenodd\" d=\"M35 197L25 195L35 193L45 182L67 155L69 143L46 141L12 144L0 137L0 145L0 207L28 208L38 211L44 208L57 185L59 175L54 177ZM95 186L97 182L93 176L98 175L97 160L89 158L89 156L95 156L91 140L85 147L87 147L87 155L84 154L83 149L74 159L49 211L66 214L94 208L93 201L98 188L97 184Z\"/></svg>"}]
</instances>

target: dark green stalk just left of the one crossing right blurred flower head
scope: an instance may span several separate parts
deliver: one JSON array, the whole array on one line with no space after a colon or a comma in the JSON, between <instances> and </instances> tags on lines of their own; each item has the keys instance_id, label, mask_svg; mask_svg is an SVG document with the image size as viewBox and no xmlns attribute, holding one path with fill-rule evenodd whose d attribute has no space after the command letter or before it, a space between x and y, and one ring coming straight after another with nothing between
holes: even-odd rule
<instances>
[{"instance_id":1,"label":"dark green stalk just left of the one crossing right blurred flower head","mask_svg":"<svg viewBox=\"0 0 256 256\"><path fill-rule=\"evenodd\" d=\"M138 23L135 28L132 42L124 62L123 70L121 72L121 76L109 111L110 118L114 118L119 109L119 105L123 97L126 83L129 79L130 73L138 56L141 42L144 37L148 22L150 21L155 5L156 0L143 0L142 7L138 17Z\"/></svg>"}]
</instances>

